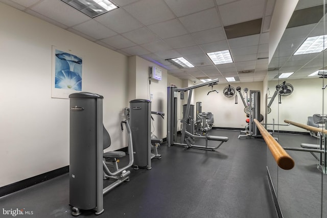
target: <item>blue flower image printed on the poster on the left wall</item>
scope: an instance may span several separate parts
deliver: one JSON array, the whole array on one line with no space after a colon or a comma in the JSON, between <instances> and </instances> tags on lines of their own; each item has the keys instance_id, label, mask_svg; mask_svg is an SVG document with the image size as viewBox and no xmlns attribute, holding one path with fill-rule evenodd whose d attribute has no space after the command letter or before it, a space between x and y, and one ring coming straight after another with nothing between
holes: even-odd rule
<instances>
[{"instance_id":1,"label":"blue flower image printed on the poster on the left wall","mask_svg":"<svg viewBox=\"0 0 327 218\"><path fill-rule=\"evenodd\" d=\"M82 91L82 58L55 51L55 88Z\"/></svg>"}]
</instances>

